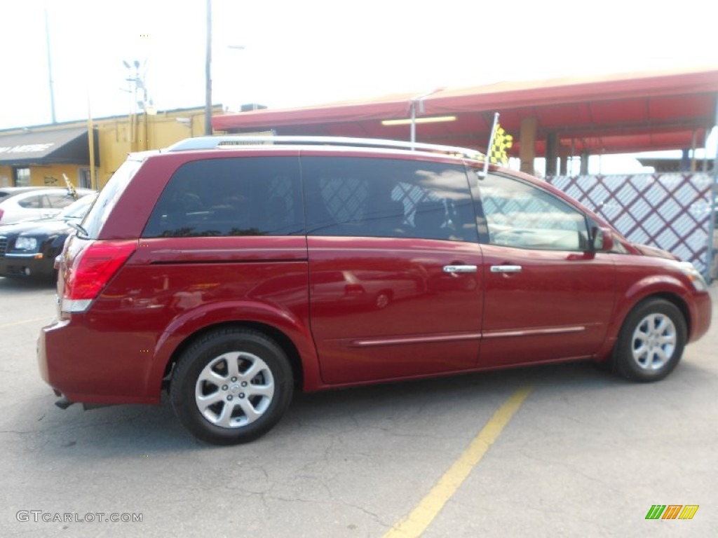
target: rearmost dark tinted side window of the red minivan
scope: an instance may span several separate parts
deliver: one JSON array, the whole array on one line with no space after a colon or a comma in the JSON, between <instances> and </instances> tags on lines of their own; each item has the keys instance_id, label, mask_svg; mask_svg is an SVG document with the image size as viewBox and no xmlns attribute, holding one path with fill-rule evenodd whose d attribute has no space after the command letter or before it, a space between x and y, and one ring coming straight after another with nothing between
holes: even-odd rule
<instances>
[{"instance_id":1,"label":"rearmost dark tinted side window of the red minivan","mask_svg":"<svg viewBox=\"0 0 718 538\"><path fill-rule=\"evenodd\" d=\"M302 235L296 157L192 161L169 179L143 237Z\"/></svg>"}]
</instances>

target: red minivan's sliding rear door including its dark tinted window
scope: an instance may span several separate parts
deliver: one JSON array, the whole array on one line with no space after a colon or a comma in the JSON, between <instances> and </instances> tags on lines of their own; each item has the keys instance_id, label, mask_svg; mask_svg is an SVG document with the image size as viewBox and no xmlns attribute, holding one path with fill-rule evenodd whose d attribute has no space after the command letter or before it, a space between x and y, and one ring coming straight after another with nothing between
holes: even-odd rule
<instances>
[{"instance_id":1,"label":"red minivan's sliding rear door including its dark tinted window","mask_svg":"<svg viewBox=\"0 0 718 538\"><path fill-rule=\"evenodd\" d=\"M302 176L322 379L474 367L482 258L463 166L309 154Z\"/></svg>"}]
</instances>

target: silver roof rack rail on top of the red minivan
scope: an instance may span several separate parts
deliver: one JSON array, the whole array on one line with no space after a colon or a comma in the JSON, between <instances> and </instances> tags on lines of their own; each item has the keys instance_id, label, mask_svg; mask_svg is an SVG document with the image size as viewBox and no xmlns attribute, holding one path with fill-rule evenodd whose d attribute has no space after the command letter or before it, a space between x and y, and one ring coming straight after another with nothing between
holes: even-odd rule
<instances>
[{"instance_id":1,"label":"silver roof rack rail on top of the red minivan","mask_svg":"<svg viewBox=\"0 0 718 538\"><path fill-rule=\"evenodd\" d=\"M342 136L198 136L172 144L164 151L189 151L198 149L231 149L233 146L255 146L264 144L306 145L306 146L365 146L370 148L393 148L429 151L457 155L467 159L485 159L480 151L438 144L412 143L381 138L349 138Z\"/></svg>"}]
</instances>

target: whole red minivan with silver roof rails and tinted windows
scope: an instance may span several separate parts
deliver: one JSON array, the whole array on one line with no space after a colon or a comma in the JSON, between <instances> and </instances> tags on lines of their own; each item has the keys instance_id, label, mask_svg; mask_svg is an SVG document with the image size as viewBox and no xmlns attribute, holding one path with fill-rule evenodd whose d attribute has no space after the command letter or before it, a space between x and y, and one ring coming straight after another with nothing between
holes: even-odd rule
<instances>
[{"instance_id":1,"label":"whole red minivan with silver roof rails and tinted windows","mask_svg":"<svg viewBox=\"0 0 718 538\"><path fill-rule=\"evenodd\" d=\"M38 341L62 400L253 440L314 391L594 359L665 377L705 334L690 263L474 151L193 138L134 154L58 259Z\"/></svg>"}]
</instances>

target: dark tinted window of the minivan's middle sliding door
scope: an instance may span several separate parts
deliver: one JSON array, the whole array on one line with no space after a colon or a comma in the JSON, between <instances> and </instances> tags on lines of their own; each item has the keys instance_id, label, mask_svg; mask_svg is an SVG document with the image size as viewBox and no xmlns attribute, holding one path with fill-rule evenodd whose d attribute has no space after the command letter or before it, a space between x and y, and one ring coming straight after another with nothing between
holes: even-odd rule
<instances>
[{"instance_id":1,"label":"dark tinted window of the minivan's middle sliding door","mask_svg":"<svg viewBox=\"0 0 718 538\"><path fill-rule=\"evenodd\" d=\"M462 166L303 157L302 174L309 235L478 240Z\"/></svg>"}]
</instances>

